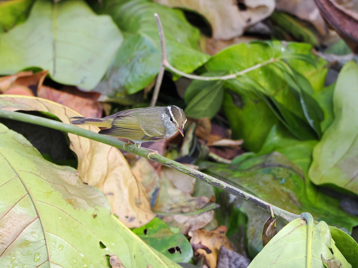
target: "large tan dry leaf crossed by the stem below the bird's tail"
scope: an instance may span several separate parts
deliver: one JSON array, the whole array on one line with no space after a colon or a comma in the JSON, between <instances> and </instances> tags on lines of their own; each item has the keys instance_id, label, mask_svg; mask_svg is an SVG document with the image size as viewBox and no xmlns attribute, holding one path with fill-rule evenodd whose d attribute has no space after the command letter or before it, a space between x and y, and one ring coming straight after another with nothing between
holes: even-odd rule
<instances>
[{"instance_id":1,"label":"large tan dry leaf crossed by the stem below the bird's tail","mask_svg":"<svg viewBox=\"0 0 358 268\"><path fill-rule=\"evenodd\" d=\"M1 109L8 111L48 111L69 124L69 118L78 116L72 109L53 101L28 97L0 95ZM81 128L98 132L95 126ZM139 227L153 219L147 194L133 176L120 151L110 145L68 133L70 148L78 158L78 172L82 180L100 188L106 195L111 212L126 226Z\"/></svg>"}]
</instances>

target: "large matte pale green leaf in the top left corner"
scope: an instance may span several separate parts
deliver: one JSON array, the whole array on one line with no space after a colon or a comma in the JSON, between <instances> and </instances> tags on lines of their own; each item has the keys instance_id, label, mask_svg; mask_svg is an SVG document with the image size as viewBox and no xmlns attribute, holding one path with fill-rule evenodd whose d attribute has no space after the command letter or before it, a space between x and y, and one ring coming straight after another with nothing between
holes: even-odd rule
<instances>
[{"instance_id":1,"label":"large matte pale green leaf in the top left corner","mask_svg":"<svg viewBox=\"0 0 358 268\"><path fill-rule=\"evenodd\" d=\"M109 16L96 15L82 0L37 0L26 22L0 39L1 74L39 67L59 83L90 90L123 38Z\"/></svg>"}]
</instances>

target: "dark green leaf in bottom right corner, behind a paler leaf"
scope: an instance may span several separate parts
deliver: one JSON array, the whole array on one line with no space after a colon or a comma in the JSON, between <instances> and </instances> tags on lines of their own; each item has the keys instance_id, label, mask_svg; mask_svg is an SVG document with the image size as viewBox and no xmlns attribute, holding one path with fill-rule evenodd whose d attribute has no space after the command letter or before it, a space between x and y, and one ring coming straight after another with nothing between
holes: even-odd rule
<instances>
[{"instance_id":1,"label":"dark green leaf in bottom right corner, behind a paler leaf","mask_svg":"<svg viewBox=\"0 0 358 268\"><path fill-rule=\"evenodd\" d=\"M344 258L352 267L358 267L358 244L347 233L342 230L329 226L330 233L335 242L335 246L343 254Z\"/></svg>"}]
</instances>

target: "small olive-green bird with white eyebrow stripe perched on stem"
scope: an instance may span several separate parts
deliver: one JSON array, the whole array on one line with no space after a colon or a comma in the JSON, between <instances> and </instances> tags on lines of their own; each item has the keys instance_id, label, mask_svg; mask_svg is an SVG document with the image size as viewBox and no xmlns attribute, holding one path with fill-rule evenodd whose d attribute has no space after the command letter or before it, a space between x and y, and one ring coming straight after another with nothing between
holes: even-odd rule
<instances>
[{"instance_id":1,"label":"small olive-green bird with white eyebrow stripe perched on stem","mask_svg":"<svg viewBox=\"0 0 358 268\"><path fill-rule=\"evenodd\" d=\"M99 131L114 137L125 138L138 147L143 142L156 142L170 138L176 131L184 136L183 128L187 122L184 111L178 106L146 107L120 111L103 118L72 117L74 125L103 126Z\"/></svg>"}]
</instances>

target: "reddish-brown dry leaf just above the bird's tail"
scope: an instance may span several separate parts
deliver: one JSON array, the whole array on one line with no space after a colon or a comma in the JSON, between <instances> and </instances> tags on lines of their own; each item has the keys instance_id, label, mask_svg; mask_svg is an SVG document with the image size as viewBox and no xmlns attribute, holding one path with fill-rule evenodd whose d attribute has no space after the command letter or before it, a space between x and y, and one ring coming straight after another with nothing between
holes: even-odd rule
<instances>
[{"instance_id":1,"label":"reddish-brown dry leaf just above the bird's tail","mask_svg":"<svg viewBox=\"0 0 358 268\"><path fill-rule=\"evenodd\" d=\"M86 117L102 117L102 106L97 99L100 96L96 92L82 92L74 86L65 86L61 90L48 86L41 86L37 91L40 98L63 104Z\"/></svg>"}]
</instances>

